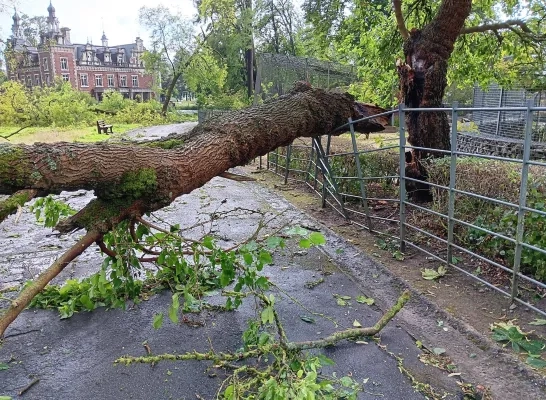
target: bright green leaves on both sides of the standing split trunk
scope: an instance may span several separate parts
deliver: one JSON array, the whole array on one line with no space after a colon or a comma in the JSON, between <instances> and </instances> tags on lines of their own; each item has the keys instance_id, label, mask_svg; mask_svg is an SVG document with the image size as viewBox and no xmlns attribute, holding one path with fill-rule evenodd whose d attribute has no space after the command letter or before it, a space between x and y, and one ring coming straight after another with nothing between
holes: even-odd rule
<instances>
[{"instance_id":1,"label":"bright green leaves on both sides of the standing split trunk","mask_svg":"<svg viewBox=\"0 0 546 400\"><path fill-rule=\"evenodd\" d=\"M366 84L355 91L391 105L396 103L397 87L392 71L396 58L402 58L405 38L394 5L408 32L429 24L441 4L440 0L306 0L303 9L322 56L357 65ZM541 22L545 15L542 1L474 1L450 59L449 84L544 85L546 32Z\"/></svg>"}]
</instances>

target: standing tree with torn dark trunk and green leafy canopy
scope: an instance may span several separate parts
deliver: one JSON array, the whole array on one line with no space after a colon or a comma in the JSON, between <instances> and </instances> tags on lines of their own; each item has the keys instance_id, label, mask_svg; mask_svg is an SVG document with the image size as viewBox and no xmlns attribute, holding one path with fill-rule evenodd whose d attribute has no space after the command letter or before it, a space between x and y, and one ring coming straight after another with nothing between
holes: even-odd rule
<instances>
[{"instance_id":1,"label":"standing tree with torn dark trunk and green leafy canopy","mask_svg":"<svg viewBox=\"0 0 546 400\"><path fill-rule=\"evenodd\" d=\"M386 70L398 56L399 98L409 107L441 107L449 79L524 84L545 69L542 1L393 0L387 7L382 1L308 0L304 8L319 37L332 35L332 44L323 45L351 58L364 76ZM374 18L352 17L368 12ZM410 144L449 149L445 113L409 113L407 124ZM415 162L440 155L413 153Z\"/></svg>"}]
</instances>

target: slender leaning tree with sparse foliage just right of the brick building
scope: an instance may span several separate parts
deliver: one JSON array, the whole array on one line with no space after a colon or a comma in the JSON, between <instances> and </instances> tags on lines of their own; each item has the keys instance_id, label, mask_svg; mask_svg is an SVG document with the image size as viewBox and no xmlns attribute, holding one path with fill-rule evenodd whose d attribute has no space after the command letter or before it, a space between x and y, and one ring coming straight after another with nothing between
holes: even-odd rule
<instances>
[{"instance_id":1,"label":"slender leaning tree with sparse foliage just right of the brick building","mask_svg":"<svg viewBox=\"0 0 546 400\"><path fill-rule=\"evenodd\" d=\"M165 115L177 82L183 76L196 42L191 21L160 5L142 7L139 10L140 24L150 31L151 47L155 54L149 56L154 68L161 68L161 62L169 67L169 75L161 77L168 82L162 113Z\"/></svg>"}]
</instances>

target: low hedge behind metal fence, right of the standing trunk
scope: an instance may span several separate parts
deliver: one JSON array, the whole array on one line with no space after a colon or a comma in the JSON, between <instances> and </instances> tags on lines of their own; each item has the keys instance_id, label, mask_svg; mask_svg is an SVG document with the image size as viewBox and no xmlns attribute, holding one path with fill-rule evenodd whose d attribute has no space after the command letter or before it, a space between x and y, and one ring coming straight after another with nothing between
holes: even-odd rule
<instances>
[{"instance_id":1,"label":"low hedge behind metal fence, right of the standing trunk","mask_svg":"<svg viewBox=\"0 0 546 400\"><path fill-rule=\"evenodd\" d=\"M428 169L431 183L449 185L449 162L449 158L444 158L431 163ZM456 187L459 190L518 204L520 184L520 164L476 157L464 157L457 160ZM433 208L447 214L448 192L444 189L433 188L433 193ZM546 212L545 196L546 178L543 169L531 166L528 178L527 206ZM455 217L507 237L516 237L517 210L513 207L456 194ZM445 226L443 228L445 229ZM544 215L527 212L524 218L523 241L532 246L546 249L545 229L546 217ZM461 244L469 246L478 253L507 267L513 266L515 245L512 242L461 224L456 225L456 232ZM446 233L445 230L444 233ZM546 254L524 247L521 268L522 272L534 275L541 281L546 281Z\"/></svg>"}]
</instances>

